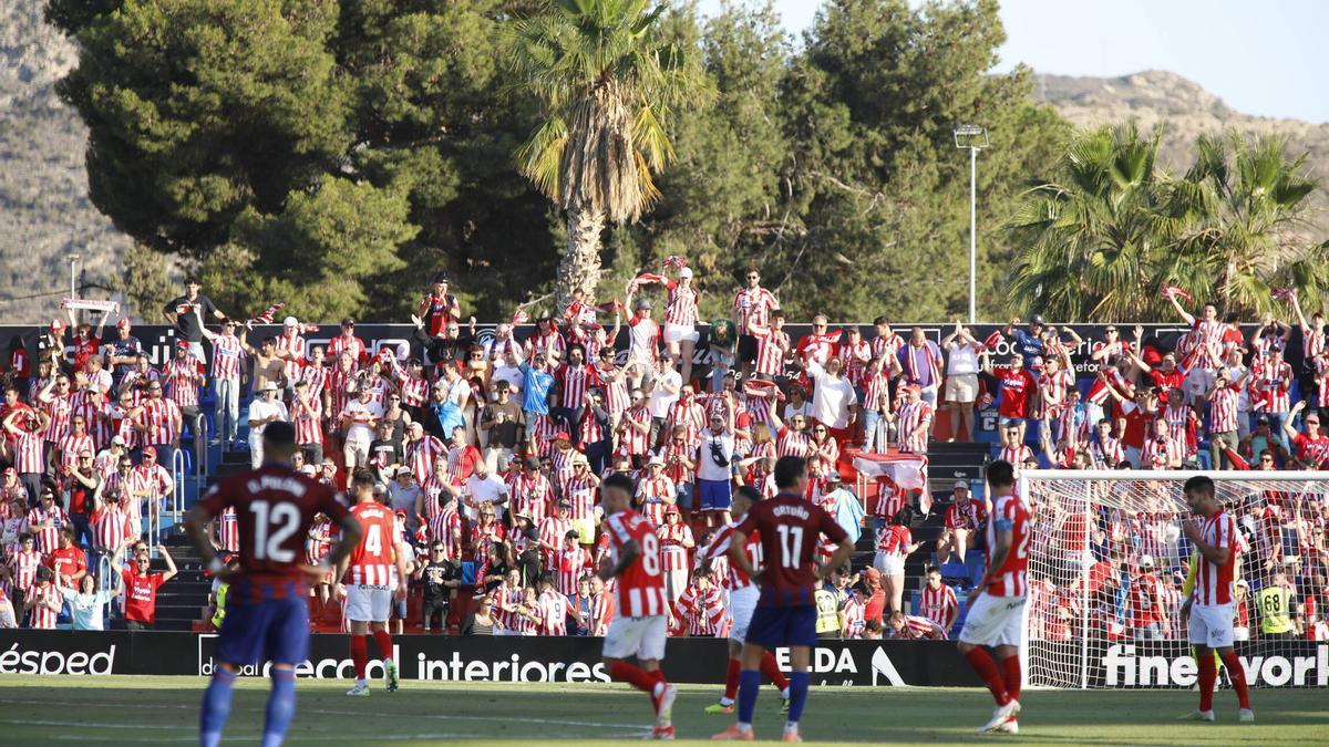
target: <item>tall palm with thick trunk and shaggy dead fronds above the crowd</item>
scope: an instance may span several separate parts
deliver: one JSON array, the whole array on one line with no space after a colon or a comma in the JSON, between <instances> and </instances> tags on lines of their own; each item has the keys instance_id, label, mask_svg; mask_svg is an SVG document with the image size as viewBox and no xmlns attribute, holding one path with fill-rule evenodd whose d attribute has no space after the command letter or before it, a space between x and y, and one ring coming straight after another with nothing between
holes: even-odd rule
<instances>
[{"instance_id":1,"label":"tall palm with thick trunk and shaggy dead fronds above the crowd","mask_svg":"<svg viewBox=\"0 0 1329 747\"><path fill-rule=\"evenodd\" d=\"M605 222L635 222L661 198L653 171L674 158L670 122L712 94L699 56L664 37L664 5L650 3L550 0L509 32L517 85L546 112L517 167L567 219L558 308L577 291L594 298Z\"/></svg>"}]
</instances>

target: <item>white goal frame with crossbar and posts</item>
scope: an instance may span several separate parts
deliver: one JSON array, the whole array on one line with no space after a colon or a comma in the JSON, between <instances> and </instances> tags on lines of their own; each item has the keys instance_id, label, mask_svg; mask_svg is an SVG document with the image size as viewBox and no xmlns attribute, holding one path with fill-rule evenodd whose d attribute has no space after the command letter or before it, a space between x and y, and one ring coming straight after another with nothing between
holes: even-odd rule
<instances>
[{"instance_id":1,"label":"white goal frame with crossbar and posts","mask_svg":"<svg viewBox=\"0 0 1329 747\"><path fill-rule=\"evenodd\" d=\"M1175 482L1177 486L1184 484L1191 477L1205 476L1215 482L1269 482L1269 481L1286 481L1292 482L1324 482L1326 493L1329 493L1329 472L1324 471L1231 471L1231 469L1213 469L1213 471L1183 471L1183 469L1033 469L1021 471L1019 477L1015 479L1015 490L1022 497L1033 497L1033 502L1037 505L1038 496L1030 496L1031 484L1045 482L1045 481L1090 481L1090 482L1114 482L1122 480L1136 480L1136 481L1164 481ZM1096 520L1094 516L1094 508L1096 505L1091 500L1084 501L1084 552L1090 550L1090 537L1091 532L1088 528ZM1088 580L1090 568L1083 565L1080 573L1080 610L1082 614L1088 614L1090 610L1090 594L1088 594ZM1023 621L1021 623L1021 679L1029 686L1030 678L1030 663L1031 663L1031 649L1030 649L1030 614L1033 613L1033 605L1025 605ZM1091 637L1087 634L1080 635L1079 639L1079 686L1080 690L1088 690L1092 687L1090 678L1090 641ZM1055 686L1041 685L1033 686L1035 689L1057 689Z\"/></svg>"}]
</instances>

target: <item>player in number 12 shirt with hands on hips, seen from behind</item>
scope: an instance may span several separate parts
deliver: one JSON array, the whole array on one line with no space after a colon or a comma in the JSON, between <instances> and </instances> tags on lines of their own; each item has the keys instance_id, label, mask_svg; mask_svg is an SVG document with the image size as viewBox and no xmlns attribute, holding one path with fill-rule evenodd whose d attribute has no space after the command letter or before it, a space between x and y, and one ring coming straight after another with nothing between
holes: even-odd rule
<instances>
[{"instance_id":1,"label":"player in number 12 shirt with hands on hips, seen from behind","mask_svg":"<svg viewBox=\"0 0 1329 747\"><path fill-rule=\"evenodd\" d=\"M271 662L272 693L263 722L263 747L286 739L295 715L295 665L308 657L310 580L324 578L360 540L360 525L327 485L291 469L295 429L270 423L263 429L264 464L218 481L185 518L185 532L207 570L227 582L226 619L217 642L213 682L203 693L199 743L215 747L231 711L231 685L246 665ZM239 568L229 569L213 550L207 525L234 506L239 525ZM326 513L342 540L322 566L304 565L304 538L314 516Z\"/></svg>"}]
</instances>

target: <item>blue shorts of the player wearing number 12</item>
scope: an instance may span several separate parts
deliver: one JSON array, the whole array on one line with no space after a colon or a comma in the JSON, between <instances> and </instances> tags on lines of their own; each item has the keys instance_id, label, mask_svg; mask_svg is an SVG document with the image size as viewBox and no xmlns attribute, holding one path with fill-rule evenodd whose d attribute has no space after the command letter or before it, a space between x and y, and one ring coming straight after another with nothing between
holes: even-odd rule
<instances>
[{"instance_id":1,"label":"blue shorts of the player wearing number 12","mask_svg":"<svg viewBox=\"0 0 1329 747\"><path fill-rule=\"evenodd\" d=\"M298 665L310 655L310 607L303 597L227 603L213 654L231 665Z\"/></svg>"}]
</instances>

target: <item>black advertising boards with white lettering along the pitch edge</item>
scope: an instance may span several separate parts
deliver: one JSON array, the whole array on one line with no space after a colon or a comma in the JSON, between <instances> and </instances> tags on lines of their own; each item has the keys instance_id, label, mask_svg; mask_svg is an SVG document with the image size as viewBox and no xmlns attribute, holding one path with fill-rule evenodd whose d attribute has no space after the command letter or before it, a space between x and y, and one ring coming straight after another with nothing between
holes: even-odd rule
<instances>
[{"instance_id":1,"label":"black advertising boards with white lettering along the pitch edge","mask_svg":"<svg viewBox=\"0 0 1329 747\"><path fill-rule=\"evenodd\" d=\"M1057 646L1035 642L1035 646ZM1076 643L1061 643L1071 646ZM193 633L0 631L0 675L144 674L209 675L215 635ZM399 635L396 661L404 679L470 682L609 682L598 638L459 638ZM1329 687L1329 643L1292 641L1280 655L1237 643L1251 677L1265 687ZM671 682L716 683L724 677L726 642L671 638L663 663ZM777 651L787 669L787 651ZM351 679L346 635L312 635L303 678ZM243 675L260 677L260 667ZM381 677L371 661L369 677ZM1175 642L1118 641L1095 666L1095 686L1189 689L1196 667ZM970 687L981 683L946 641L824 641L813 657L813 685Z\"/></svg>"}]
</instances>

